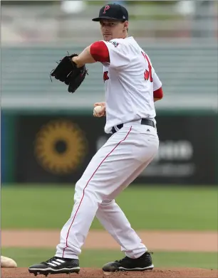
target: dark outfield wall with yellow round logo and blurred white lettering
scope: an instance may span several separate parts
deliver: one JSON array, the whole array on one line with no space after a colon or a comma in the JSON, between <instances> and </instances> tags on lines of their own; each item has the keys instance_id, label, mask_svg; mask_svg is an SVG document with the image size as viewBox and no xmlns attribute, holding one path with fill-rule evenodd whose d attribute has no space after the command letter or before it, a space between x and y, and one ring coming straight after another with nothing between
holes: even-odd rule
<instances>
[{"instance_id":1,"label":"dark outfield wall with yellow round logo and blurred white lettering","mask_svg":"<svg viewBox=\"0 0 218 278\"><path fill-rule=\"evenodd\" d=\"M75 183L110 135L90 110L1 112L3 183ZM135 181L218 183L218 117L209 111L157 113L160 149Z\"/></svg>"}]
</instances>

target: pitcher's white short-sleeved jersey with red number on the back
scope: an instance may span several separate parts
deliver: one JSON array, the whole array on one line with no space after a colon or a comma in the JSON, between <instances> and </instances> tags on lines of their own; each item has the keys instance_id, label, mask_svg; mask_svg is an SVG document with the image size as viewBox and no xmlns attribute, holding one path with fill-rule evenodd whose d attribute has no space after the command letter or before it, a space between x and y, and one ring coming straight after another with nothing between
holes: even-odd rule
<instances>
[{"instance_id":1,"label":"pitcher's white short-sleeved jersey with red number on the back","mask_svg":"<svg viewBox=\"0 0 218 278\"><path fill-rule=\"evenodd\" d=\"M133 37L103 42L110 54L110 63L103 63L105 132L136 119L154 119L153 91L162 87L162 83L150 58Z\"/></svg>"}]
</instances>

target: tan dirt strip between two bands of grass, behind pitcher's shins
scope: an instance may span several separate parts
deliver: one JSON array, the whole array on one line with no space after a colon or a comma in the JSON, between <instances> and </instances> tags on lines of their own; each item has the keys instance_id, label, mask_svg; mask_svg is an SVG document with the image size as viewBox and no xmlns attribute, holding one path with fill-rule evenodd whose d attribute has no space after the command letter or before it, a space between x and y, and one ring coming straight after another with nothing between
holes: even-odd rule
<instances>
[{"instance_id":1,"label":"tan dirt strip between two bands of grass, behind pitcher's shins","mask_svg":"<svg viewBox=\"0 0 218 278\"><path fill-rule=\"evenodd\" d=\"M138 235L149 250L217 252L216 232L140 230ZM59 230L2 230L2 247L55 247L60 240ZM201 242L201 244L199 244ZM120 250L120 246L102 230L90 230L83 249Z\"/></svg>"}]
</instances>

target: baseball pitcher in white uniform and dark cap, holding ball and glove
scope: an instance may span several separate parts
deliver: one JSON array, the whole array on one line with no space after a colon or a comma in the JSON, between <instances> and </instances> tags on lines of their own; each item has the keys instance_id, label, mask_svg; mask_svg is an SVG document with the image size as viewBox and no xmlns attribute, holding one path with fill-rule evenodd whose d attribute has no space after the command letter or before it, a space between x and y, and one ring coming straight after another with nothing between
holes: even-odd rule
<instances>
[{"instance_id":1,"label":"baseball pitcher in white uniform and dark cap, holding ball and glove","mask_svg":"<svg viewBox=\"0 0 218 278\"><path fill-rule=\"evenodd\" d=\"M51 77L75 92L85 80L85 65L102 63L105 102L95 103L98 109L94 109L94 116L105 116L105 133L112 135L76 183L73 211L61 230L55 256L29 267L28 271L35 275L78 273L78 257L95 215L125 253L123 259L105 264L104 272L154 267L150 252L115 198L157 154L154 102L162 99L162 83L148 55L128 36L125 7L105 5L93 21L100 22L103 40L92 43L79 55L63 58Z\"/></svg>"}]
</instances>

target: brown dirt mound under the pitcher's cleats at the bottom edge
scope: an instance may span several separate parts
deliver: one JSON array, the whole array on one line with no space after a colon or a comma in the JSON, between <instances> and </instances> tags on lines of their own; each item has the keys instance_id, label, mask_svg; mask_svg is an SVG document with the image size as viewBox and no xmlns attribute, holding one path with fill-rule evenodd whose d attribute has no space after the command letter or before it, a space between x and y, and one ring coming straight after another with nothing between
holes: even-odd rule
<instances>
[{"instance_id":1,"label":"brown dirt mound under the pitcher's cleats at the bottom edge","mask_svg":"<svg viewBox=\"0 0 218 278\"><path fill-rule=\"evenodd\" d=\"M2 278L34 278L33 274L28 273L26 268L16 268L16 269L1 269ZM45 277L43 275L37 275L37 278ZM82 268L79 274L57 274L57 275L48 275L48 278L116 278L116 277L125 277L125 278L217 278L218 270L210 269L195 269L195 268L155 268L154 270L149 270L147 272L103 272L101 269L91 269L91 268Z\"/></svg>"}]
</instances>

